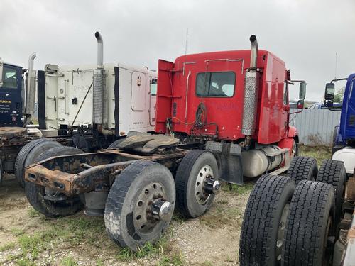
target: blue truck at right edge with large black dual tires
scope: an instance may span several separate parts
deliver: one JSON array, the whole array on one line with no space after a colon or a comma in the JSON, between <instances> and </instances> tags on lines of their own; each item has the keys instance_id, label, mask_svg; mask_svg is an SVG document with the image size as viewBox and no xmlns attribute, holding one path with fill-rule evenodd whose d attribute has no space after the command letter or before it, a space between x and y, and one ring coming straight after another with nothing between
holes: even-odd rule
<instances>
[{"instance_id":1,"label":"blue truck at right edge with large black dual tires","mask_svg":"<svg viewBox=\"0 0 355 266\"><path fill-rule=\"evenodd\" d=\"M355 265L355 74L327 83L324 105L334 109L339 80L346 87L332 159L318 170L314 158L295 157L285 176L258 179L241 228L241 265Z\"/></svg>"}]
</instances>

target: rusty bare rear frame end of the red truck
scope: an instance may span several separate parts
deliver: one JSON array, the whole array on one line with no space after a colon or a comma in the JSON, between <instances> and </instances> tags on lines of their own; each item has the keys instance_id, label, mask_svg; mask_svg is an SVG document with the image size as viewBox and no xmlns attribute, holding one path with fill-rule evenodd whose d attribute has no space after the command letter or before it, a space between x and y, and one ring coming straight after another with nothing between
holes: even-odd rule
<instances>
[{"instance_id":1,"label":"rusty bare rear frame end of the red truck","mask_svg":"<svg viewBox=\"0 0 355 266\"><path fill-rule=\"evenodd\" d=\"M184 157L187 150L150 156L103 150L97 153L61 155L26 167L25 179L72 196L91 191L109 191L116 176L138 160L164 162Z\"/></svg>"}]
</instances>

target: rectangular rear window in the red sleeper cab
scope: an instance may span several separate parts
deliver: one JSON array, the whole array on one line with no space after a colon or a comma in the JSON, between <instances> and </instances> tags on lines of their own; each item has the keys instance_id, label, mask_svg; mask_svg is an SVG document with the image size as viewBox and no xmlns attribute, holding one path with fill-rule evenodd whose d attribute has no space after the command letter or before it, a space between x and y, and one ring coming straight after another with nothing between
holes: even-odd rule
<instances>
[{"instance_id":1,"label":"rectangular rear window in the red sleeper cab","mask_svg":"<svg viewBox=\"0 0 355 266\"><path fill-rule=\"evenodd\" d=\"M196 95L202 97L234 96L234 72L204 72L197 74Z\"/></svg>"}]
</instances>

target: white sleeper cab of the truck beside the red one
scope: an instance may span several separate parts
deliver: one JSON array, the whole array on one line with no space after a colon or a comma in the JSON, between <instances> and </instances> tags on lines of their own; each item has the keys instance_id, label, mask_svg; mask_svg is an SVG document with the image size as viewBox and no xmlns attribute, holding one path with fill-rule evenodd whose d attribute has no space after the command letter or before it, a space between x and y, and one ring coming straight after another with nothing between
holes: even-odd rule
<instances>
[{"instance_id":1,"label":"white sleeper cab of the truck beside the red one","mask_svg":"<svg viewBox=\"0 0 355 266\"><path fill-rule=\"evenodd\" d=\"M97 65L45 65L39 104L43 128L56 135L67 135L70 127L92 128L95 70ZM156 72L120 63L104 64L103 71L104 133L120 137L154 131Z\"/></svg>"}]
</instances>

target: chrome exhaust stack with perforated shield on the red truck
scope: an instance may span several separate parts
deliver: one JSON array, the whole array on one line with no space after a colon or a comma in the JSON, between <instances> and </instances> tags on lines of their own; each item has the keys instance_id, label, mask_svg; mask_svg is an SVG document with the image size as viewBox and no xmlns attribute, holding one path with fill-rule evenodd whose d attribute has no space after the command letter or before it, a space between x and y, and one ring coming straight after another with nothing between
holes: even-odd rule
<instances>
[{"instance_id":1,"label":"chrome exhaust stack with perforated shield on the red truck","mask_svg":"<svg viewBox=\"0 0 355 266\"><path fill-rule=\"evenodd\" d=\"M258 106L258 79L259 72L256 67L258 59L258 42L256 35L250 36L251 56L250 67L246 70L244 82L244 108L243 108L243 125L241 133L246 136L246 146L249 146L251 135L255 133L256 128L256 111Z\"/></svg>"}]
</instances>

